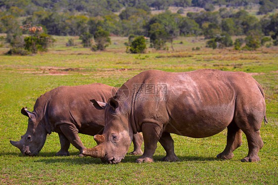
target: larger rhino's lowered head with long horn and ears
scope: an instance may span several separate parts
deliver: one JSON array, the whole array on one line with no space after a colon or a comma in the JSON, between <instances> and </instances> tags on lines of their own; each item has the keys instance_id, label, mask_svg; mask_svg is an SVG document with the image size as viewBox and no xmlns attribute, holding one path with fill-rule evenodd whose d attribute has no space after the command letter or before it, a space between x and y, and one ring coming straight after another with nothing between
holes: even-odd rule
<instances>
[{"instance_id":1,"label":"larger rhino's lowered head with long horn and ears","mask_svg":"<svg viewBox=\"0 0 278 185\"><path fill-rule=\"evenodd\" d=\"M96 109L104 109L105 127L102 135L93 137L97 146L83 149L83 154L100 158L102 162L109 164L119 163L125 157L133 139L126 106L119 106L119 102L114 98L110 98L108 104L95 100L91 102Z\"/></svg>"}]
</instances>

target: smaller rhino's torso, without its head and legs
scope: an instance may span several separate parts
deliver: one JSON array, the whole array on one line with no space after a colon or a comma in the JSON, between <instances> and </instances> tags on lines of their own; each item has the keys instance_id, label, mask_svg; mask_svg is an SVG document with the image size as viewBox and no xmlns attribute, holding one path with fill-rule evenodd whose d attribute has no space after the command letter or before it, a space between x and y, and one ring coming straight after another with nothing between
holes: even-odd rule
<instances>
[{"instance_id":1,"label":"smaller rhino's torso, without its head and legs","mask_svg":"<svg viewBox=\"0 0 278 185\"><path fill-rule=\"evenodd\" d=\"M51 131L59 132L60 124L74 124L79 133L95 135L102 132L104 112L96 110L90 100L107 102L112 96L112 89L111 86L94 83L61 86L46 92L40 99L46 99L44 113Z\"/></svg>"}]
</instances>

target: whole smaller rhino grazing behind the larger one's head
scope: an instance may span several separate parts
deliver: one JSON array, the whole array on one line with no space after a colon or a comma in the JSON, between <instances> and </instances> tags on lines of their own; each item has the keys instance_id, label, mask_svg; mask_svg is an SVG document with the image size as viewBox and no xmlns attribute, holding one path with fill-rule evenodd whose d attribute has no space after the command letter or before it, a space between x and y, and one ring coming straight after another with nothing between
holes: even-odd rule
<instances>
[{"instance_id":1,"label":"whole smaller rhino grazing behind the larger one's head","mask_svg":"<svg viewBox=\"0 0 278 185\"><path fill-rule=\"evenodd\" d=\"M101 134L104 128L104 111L97 110L90 102L97 99L107 102L118 88L101 83L80 86L61 86L40 96L34 106L34 111L21 110L28 116L28 128L18 142L10 143L19 148L24 155L34 156L43 148L46 135L51 132L59 134L61 149L57 156L69 155L68 148L72 144L80 150L83 156L85 149L78 133L94 136ZM142 154L143 142L140 133L134 134L134 151L131 154Z\"/></svg>"}]
</instances>

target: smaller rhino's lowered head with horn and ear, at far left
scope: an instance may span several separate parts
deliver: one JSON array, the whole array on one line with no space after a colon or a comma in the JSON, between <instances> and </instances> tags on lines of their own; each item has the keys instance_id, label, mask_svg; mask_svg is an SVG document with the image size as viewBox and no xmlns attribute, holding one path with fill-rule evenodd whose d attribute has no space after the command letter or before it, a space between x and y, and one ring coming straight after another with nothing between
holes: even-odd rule
<instances>
[{"instance_id":1,"label":"smaller rhino's lowered head with horn and ear, at far left","mask_svg":"<svg viewBox=\"0 0 278 185\"><path fill-rule=\"evenodd\" d=\"M24 155L38 155L46 142L47 131L45 126L41 123L41 118L36 112L30 112L27 111L27 108L22 108L21 113L29 118L27 131L21 136L20 141L10 141L10 143L20 149Z\"/></svg>"}]
</instances>

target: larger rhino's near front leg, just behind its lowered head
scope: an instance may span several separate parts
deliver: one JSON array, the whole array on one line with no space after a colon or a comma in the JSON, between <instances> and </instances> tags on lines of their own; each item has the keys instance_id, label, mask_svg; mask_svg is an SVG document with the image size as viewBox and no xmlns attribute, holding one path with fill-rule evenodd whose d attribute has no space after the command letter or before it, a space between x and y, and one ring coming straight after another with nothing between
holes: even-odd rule
<instances>
[{"instance_id":1,"label":"larger rhino's near front leg, just behind its lowered head","mask_svg":"<svg viewBox=\"0 0 278 185\"><path fill-rule=\"evenodd\" d=\"M162 128L155 123L143 123L141 129L144 139L144 153L135 162L153 162L152 156L162 134Z\"/></svg>"}]
</instances>

